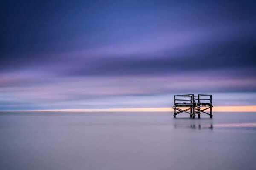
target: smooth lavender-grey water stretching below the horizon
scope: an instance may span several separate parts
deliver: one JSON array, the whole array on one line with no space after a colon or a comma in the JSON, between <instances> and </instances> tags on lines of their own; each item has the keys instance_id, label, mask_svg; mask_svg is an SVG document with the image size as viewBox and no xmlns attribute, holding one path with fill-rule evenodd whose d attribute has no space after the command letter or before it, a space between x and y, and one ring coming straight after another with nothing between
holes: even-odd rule
<instances>
[{"instance_id":1,"label":"smooth lavender-grey water stretching below the horizon","mask_svg":"<svg viewBox=\"0 0 256 170\"><path fill-rule=\"evenodd\" d=\"M0 113L0 170L255 170L256 113Z\"/></svg>"}]
</instances>

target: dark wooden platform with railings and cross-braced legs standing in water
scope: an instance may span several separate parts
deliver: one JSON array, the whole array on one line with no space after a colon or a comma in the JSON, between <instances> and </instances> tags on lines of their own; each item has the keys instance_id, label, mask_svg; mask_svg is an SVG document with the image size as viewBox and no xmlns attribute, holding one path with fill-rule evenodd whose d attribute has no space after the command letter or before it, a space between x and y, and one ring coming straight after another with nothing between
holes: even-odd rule
<instances>
[{"instance_id":1,"label":"dark wooden platform with railings and cross-braced legs standing in water","mask_svg":"<svg viewBox=\"0 0 256 170\"><path fill-rule=\"evenodd\" d=\"M205 113L212 118L212 95L211 94L198 94L197 99L195 99L194 94L184 94L184 95L174 95L174 117L180 113L188 113L190 117L195 118L198 114L200 118L201 113ZM184 107L186 107L184 109ZM200 107L206 107L201 109ZM210 109L210 113L207 113L206 110ZM178 112L176 112L178 110ZM189 112L190 110L190 112Z\"/></svg>"}]
</instances>

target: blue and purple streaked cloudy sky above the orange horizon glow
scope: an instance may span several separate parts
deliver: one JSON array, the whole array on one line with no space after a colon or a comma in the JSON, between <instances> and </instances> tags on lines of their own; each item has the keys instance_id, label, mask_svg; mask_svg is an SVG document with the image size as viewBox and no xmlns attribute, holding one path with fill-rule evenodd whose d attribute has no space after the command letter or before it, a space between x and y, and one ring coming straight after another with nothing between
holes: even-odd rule
<instances>
[{"instance_id":1,"label":"blue and purple streaked cloudy sky above the orange horizon glow","mask_svg":"<svg viewBox=\"0 0 256 170\"><path fill-rule=\"evenodd\" d=\"M256 2L0 2L0 111L256 105Z\"/></svg>"}]
</instances>

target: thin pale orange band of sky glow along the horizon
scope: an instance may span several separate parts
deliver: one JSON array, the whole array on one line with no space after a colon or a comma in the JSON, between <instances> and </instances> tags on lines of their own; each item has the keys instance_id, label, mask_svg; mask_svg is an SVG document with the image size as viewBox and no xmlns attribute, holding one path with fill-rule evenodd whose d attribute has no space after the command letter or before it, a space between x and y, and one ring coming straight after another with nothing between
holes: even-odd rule
<instances>
[{"instance_id":1,"label":"thin pale orange band of sky glow along the horizon","mask_svg":"<svg viewBox=\"0 0 256 170\"><path fill-rule=\"evenodd\" d=\"M203 107L201 107L203 108ZM108 108L108 109L45 109L45 110L20 110L20 111L67 111L67 112L170 112L170 108ZM215 112L256 112L256 105L250 106L214 106Z\"/></svg>"}]
</instances>

